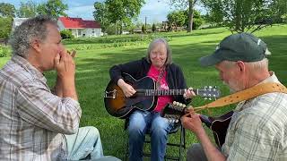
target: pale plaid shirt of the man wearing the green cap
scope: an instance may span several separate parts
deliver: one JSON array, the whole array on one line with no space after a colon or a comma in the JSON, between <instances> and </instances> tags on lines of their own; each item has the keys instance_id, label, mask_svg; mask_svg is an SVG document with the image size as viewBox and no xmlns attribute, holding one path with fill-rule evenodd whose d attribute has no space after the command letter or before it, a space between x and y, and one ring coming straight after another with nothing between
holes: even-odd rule
<instances>
[{"instance_id":1,"label":"pale plaid shirt of the man wearing the green cap","mask_svg":"<svg viewBox=\"0 0 287 161\"><path fill-rule=\"evenodd\" d=\"M279 82L275 74L263 82ZM268 93L240 102L222 153L227 160L287 160L287 95Z\"/></svg>"}]
</instances>

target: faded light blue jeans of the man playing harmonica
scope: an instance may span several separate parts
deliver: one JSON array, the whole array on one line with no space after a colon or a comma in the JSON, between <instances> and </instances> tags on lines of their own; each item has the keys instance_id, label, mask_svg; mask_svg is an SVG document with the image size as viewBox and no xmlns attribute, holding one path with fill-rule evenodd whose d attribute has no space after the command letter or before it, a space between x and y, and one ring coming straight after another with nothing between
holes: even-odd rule
<instances>
[{"instance_id":1,"label":"faded light blue jeans of the man playing harmonica","mask_svg":"<svg viewBox=\"0 0 287 161\"><path fill-rule=\"evenodd\" d=\"M119 160L117 157L103 156L100 133L95 127L82 127L79 128L77 133L64 136L66 140L67 160Z\"/></svg>"}]
</instances>

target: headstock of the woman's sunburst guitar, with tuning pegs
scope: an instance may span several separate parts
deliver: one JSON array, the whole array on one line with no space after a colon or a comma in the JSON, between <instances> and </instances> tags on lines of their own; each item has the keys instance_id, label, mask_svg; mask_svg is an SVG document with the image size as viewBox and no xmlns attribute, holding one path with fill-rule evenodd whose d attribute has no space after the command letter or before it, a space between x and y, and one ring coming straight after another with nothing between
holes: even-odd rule
<instances>
[{"instance_id":1,"label":"headstock of the woman's sunburst guitar, with tuning pegs","mask_svg":"<svg viewBox=\"0 0 287 161\"><path fill-rule=\"evenodd\" d=\"M210 100L221 97L221 91L216 86L205 86L204 89L197 89L196 94Z\"/></svg>"}]
</instances>

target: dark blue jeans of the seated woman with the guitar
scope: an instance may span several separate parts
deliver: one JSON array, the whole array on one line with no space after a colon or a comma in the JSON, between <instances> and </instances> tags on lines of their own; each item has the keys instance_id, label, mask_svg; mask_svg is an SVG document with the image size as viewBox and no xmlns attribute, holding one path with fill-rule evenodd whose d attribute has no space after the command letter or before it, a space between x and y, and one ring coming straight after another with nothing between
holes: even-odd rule
<instances>
[{"instance_id":1,"label":"dark blue jeans of the seated woman with the guitar","mask_svg":"<svg viewBox=\"0 0 287 161\"><path fill-rule=\"evenodd\" d=\"M160 113L136 110L129 117L128 144L129 160L143 160L143 142L147 132L151 135L152 161L164 160L169 131L169 123Z\"/></svg>"}]
</instances>

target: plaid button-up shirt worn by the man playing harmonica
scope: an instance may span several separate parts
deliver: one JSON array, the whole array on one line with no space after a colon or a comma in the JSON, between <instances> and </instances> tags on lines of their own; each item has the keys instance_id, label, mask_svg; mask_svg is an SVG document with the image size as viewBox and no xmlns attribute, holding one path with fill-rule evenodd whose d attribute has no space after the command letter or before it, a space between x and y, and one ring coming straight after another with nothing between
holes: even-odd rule
<instances>
[{"instance_id":1,"label":"plaid button-up shirt worn by the man playing harmonica","mask_svg":"<svg viewBox=\"0 0 287 161\"><path fill-rule=\"evenodd\" d=\"M64 134L77 131L81 108L57 97L46 79L21 56L0 71L0 160L62 160Z\"/></svg>"}]
</instances>

